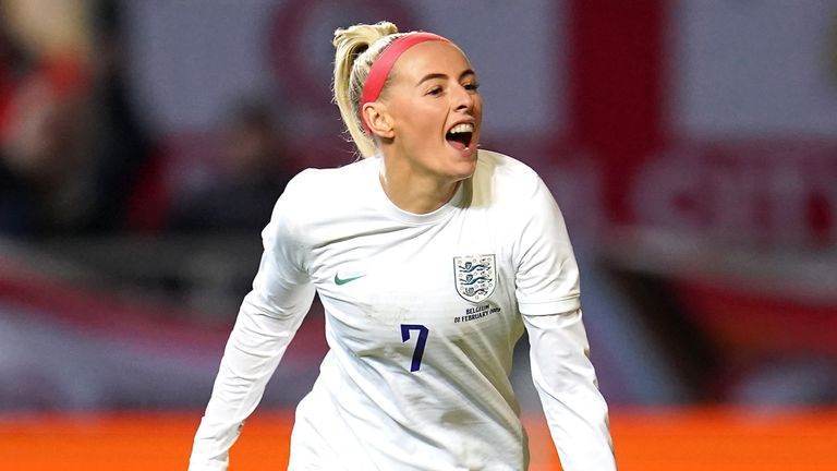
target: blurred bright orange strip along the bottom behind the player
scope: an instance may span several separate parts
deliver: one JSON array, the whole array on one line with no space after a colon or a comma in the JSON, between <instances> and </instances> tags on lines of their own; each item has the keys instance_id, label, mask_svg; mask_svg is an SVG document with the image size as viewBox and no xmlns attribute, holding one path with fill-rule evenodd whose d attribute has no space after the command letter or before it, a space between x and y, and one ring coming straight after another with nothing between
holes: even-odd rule
<instances>
[{"instance_id":1,"label":"blurred bright orange strip along the bottom behind the player","mask_svg":"<svg viewBox=\"0 0 837 471\"><path fill-rule=\"evenodd\" d=\"M2 470L185 470L194 413L0 415ZM282 470L290 412L258 411L232 449L232 471ZM560 470L543 419L525 420L531 471ZM616 410L621 471L837 469L837 410Z\"/></svg>"}]
</instances>

